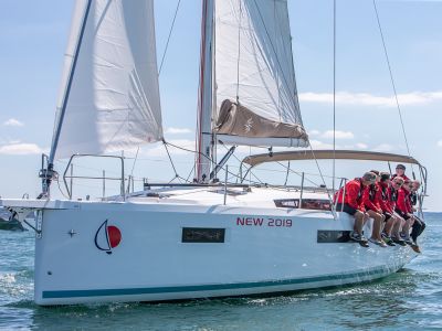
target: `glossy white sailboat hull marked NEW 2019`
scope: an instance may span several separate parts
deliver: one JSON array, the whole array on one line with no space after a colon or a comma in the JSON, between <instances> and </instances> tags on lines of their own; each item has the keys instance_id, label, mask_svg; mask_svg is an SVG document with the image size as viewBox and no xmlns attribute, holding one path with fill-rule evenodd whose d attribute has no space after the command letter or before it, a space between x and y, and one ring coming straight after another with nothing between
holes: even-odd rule
<instances>
[{"instance_id":1,"label":"glossy white sailboat hull marked NEW 2019","mask_svg":"<svg viewBox=\"0 0 442 331\"><path fill-rule=\"evenodd\" d=\"M346 214L335 221L322 211L152 200L46 203L35 244L35 302L158 301L339 286L388 276L415 256L410 247L318 243L318 231L351 229ZM122 236L112 249L95 239L106 220ZM182 243L185 227L225 228L224 243Z\"/></svg>"}]
</instances>

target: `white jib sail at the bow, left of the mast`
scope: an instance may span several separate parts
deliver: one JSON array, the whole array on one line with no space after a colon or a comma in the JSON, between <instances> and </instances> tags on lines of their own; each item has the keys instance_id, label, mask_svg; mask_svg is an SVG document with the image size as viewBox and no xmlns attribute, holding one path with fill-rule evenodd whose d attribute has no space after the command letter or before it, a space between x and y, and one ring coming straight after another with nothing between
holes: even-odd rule
<instances>
[{"instance_id":1,"label":"white jib sail at the bow, left of the mast","mask_svg":"<svg viewBox=\"0 0 442 331\"><path fill-rule=\"evenodd\" d=\"M152 0L76 1L57 126L61 134L56 158L119 151L162 138Z\"/></svg>"}]
</instances>

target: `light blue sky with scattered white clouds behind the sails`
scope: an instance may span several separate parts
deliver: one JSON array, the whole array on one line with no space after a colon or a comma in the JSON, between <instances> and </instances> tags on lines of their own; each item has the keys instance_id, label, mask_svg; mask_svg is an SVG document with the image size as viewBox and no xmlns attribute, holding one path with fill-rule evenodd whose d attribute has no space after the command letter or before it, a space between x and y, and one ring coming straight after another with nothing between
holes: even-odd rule
<instances>
[{"instance_id":1,"label":"light blue sky with scattered white clouds behind the sails","mask_svg":"<svg viewBox=\"0 0 442 331\"><path fill-rule=\"evenodd\" d=\"M49 152L51 142L73 3L73 0L0 1L2 197L21 197L24 193L35 196L40 192L36 174L41 153ZM155 2L159 61L176 6L175 0ZM333 1L288 0L288 7L304 125L314 148L330 148ZM429 171L430 196L425 207L442 211L442 1L378 0L377 7L410 153ZM190 149L194 147L200 19L201 1L182 0L159 76L166 140ZM372 1L337 0L336 24L337 148L407 154ZM170 151L178 171L186 178L193 157L177 149ZM239 157L255 151L242 148ZM134 156L134 151L126 156ZM170 180L173 172L166 158L161 146L144 147L135 166L128 159L126 169L137 178ZM61 160L55 167L63 172L65 164ZM325 174L332 174L330 162L319 164ZM95 174L104 167L109 167L108 173L115 171L113 166L95 160L84 160L76 167L78 171ZM313 162L292 167L299 172L317 172ZM352 178L373 168L388 170L383 163L339 161L336 174ZM278 173L280 179L285 170L281 168ZM75 186L78 194L88 190L98 195L95 186L83 182Z\"/></svg>"}]
</instances>

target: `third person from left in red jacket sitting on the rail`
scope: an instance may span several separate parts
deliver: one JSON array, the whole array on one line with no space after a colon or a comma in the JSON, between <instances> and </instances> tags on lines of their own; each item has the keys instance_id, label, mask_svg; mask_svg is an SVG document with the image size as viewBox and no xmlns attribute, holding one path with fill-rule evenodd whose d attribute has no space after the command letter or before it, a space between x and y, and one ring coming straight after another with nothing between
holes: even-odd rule
<instances>
[{"instance_id":1,"label":"third person from left in red jacket sitting on the rail","mask_svg":"<svg viewBox=\"0 0 442 331\"><path fill-rule=\"evenodd\" d=\"M394 210L391 207L388 191L390 190L390 173L381 172L378 182L378 191L376 192L376 200L378 201L382 214L386 217L383 229L381 233L383 242L389 246L396 246L391 239L391 231L394 224L400 224L400 218L394 215Z\"/></svg>"}]
</instances>

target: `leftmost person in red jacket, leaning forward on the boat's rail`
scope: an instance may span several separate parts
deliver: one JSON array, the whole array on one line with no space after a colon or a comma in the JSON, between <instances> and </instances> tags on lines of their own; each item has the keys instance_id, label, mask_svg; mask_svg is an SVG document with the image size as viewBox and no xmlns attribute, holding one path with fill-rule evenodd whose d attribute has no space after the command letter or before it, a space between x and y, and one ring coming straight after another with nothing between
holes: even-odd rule
<instances>
[{"instance_id":1,"label":"leftmost person in red jacket, leaning forward on the boat's rail","mask_svg":"<svg viewBox=\"0 0 442 331\"><path fill-rule=\"evenodd\" d=\"M355 217L354 232L350 233L350 238L355 242L367 243L362 235L362 227L368 220L368 214L366 214L362 195L365 188L375 183L375 181L376 174L366 172L361 178L347 182L335 195L336 211L345 212Z\"/></svg>"}]
</instances>

